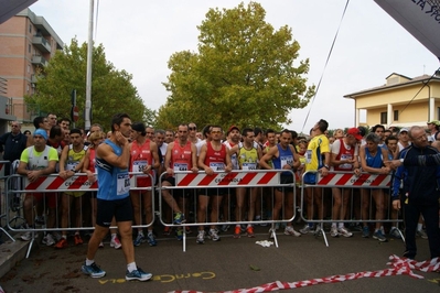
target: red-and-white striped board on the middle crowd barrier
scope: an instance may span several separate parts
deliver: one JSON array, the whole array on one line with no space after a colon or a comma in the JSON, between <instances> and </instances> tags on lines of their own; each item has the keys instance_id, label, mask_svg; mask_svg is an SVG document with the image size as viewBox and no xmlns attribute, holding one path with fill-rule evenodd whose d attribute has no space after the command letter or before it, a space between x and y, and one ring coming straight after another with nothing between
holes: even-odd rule
<instances>
[{"instance_id":1,"label":"red-and-white striped board on the middle crowd barrier","mask_svg":"<svg viewBox=\"0 0 440 293\"><path fill-rule=\"evenodd\" d=\"M250 172L250 173L176 173L175 185L183 186L242 186L242 185L273 185L279 184L279 173Z\"/></svg>"}]
</instances>

